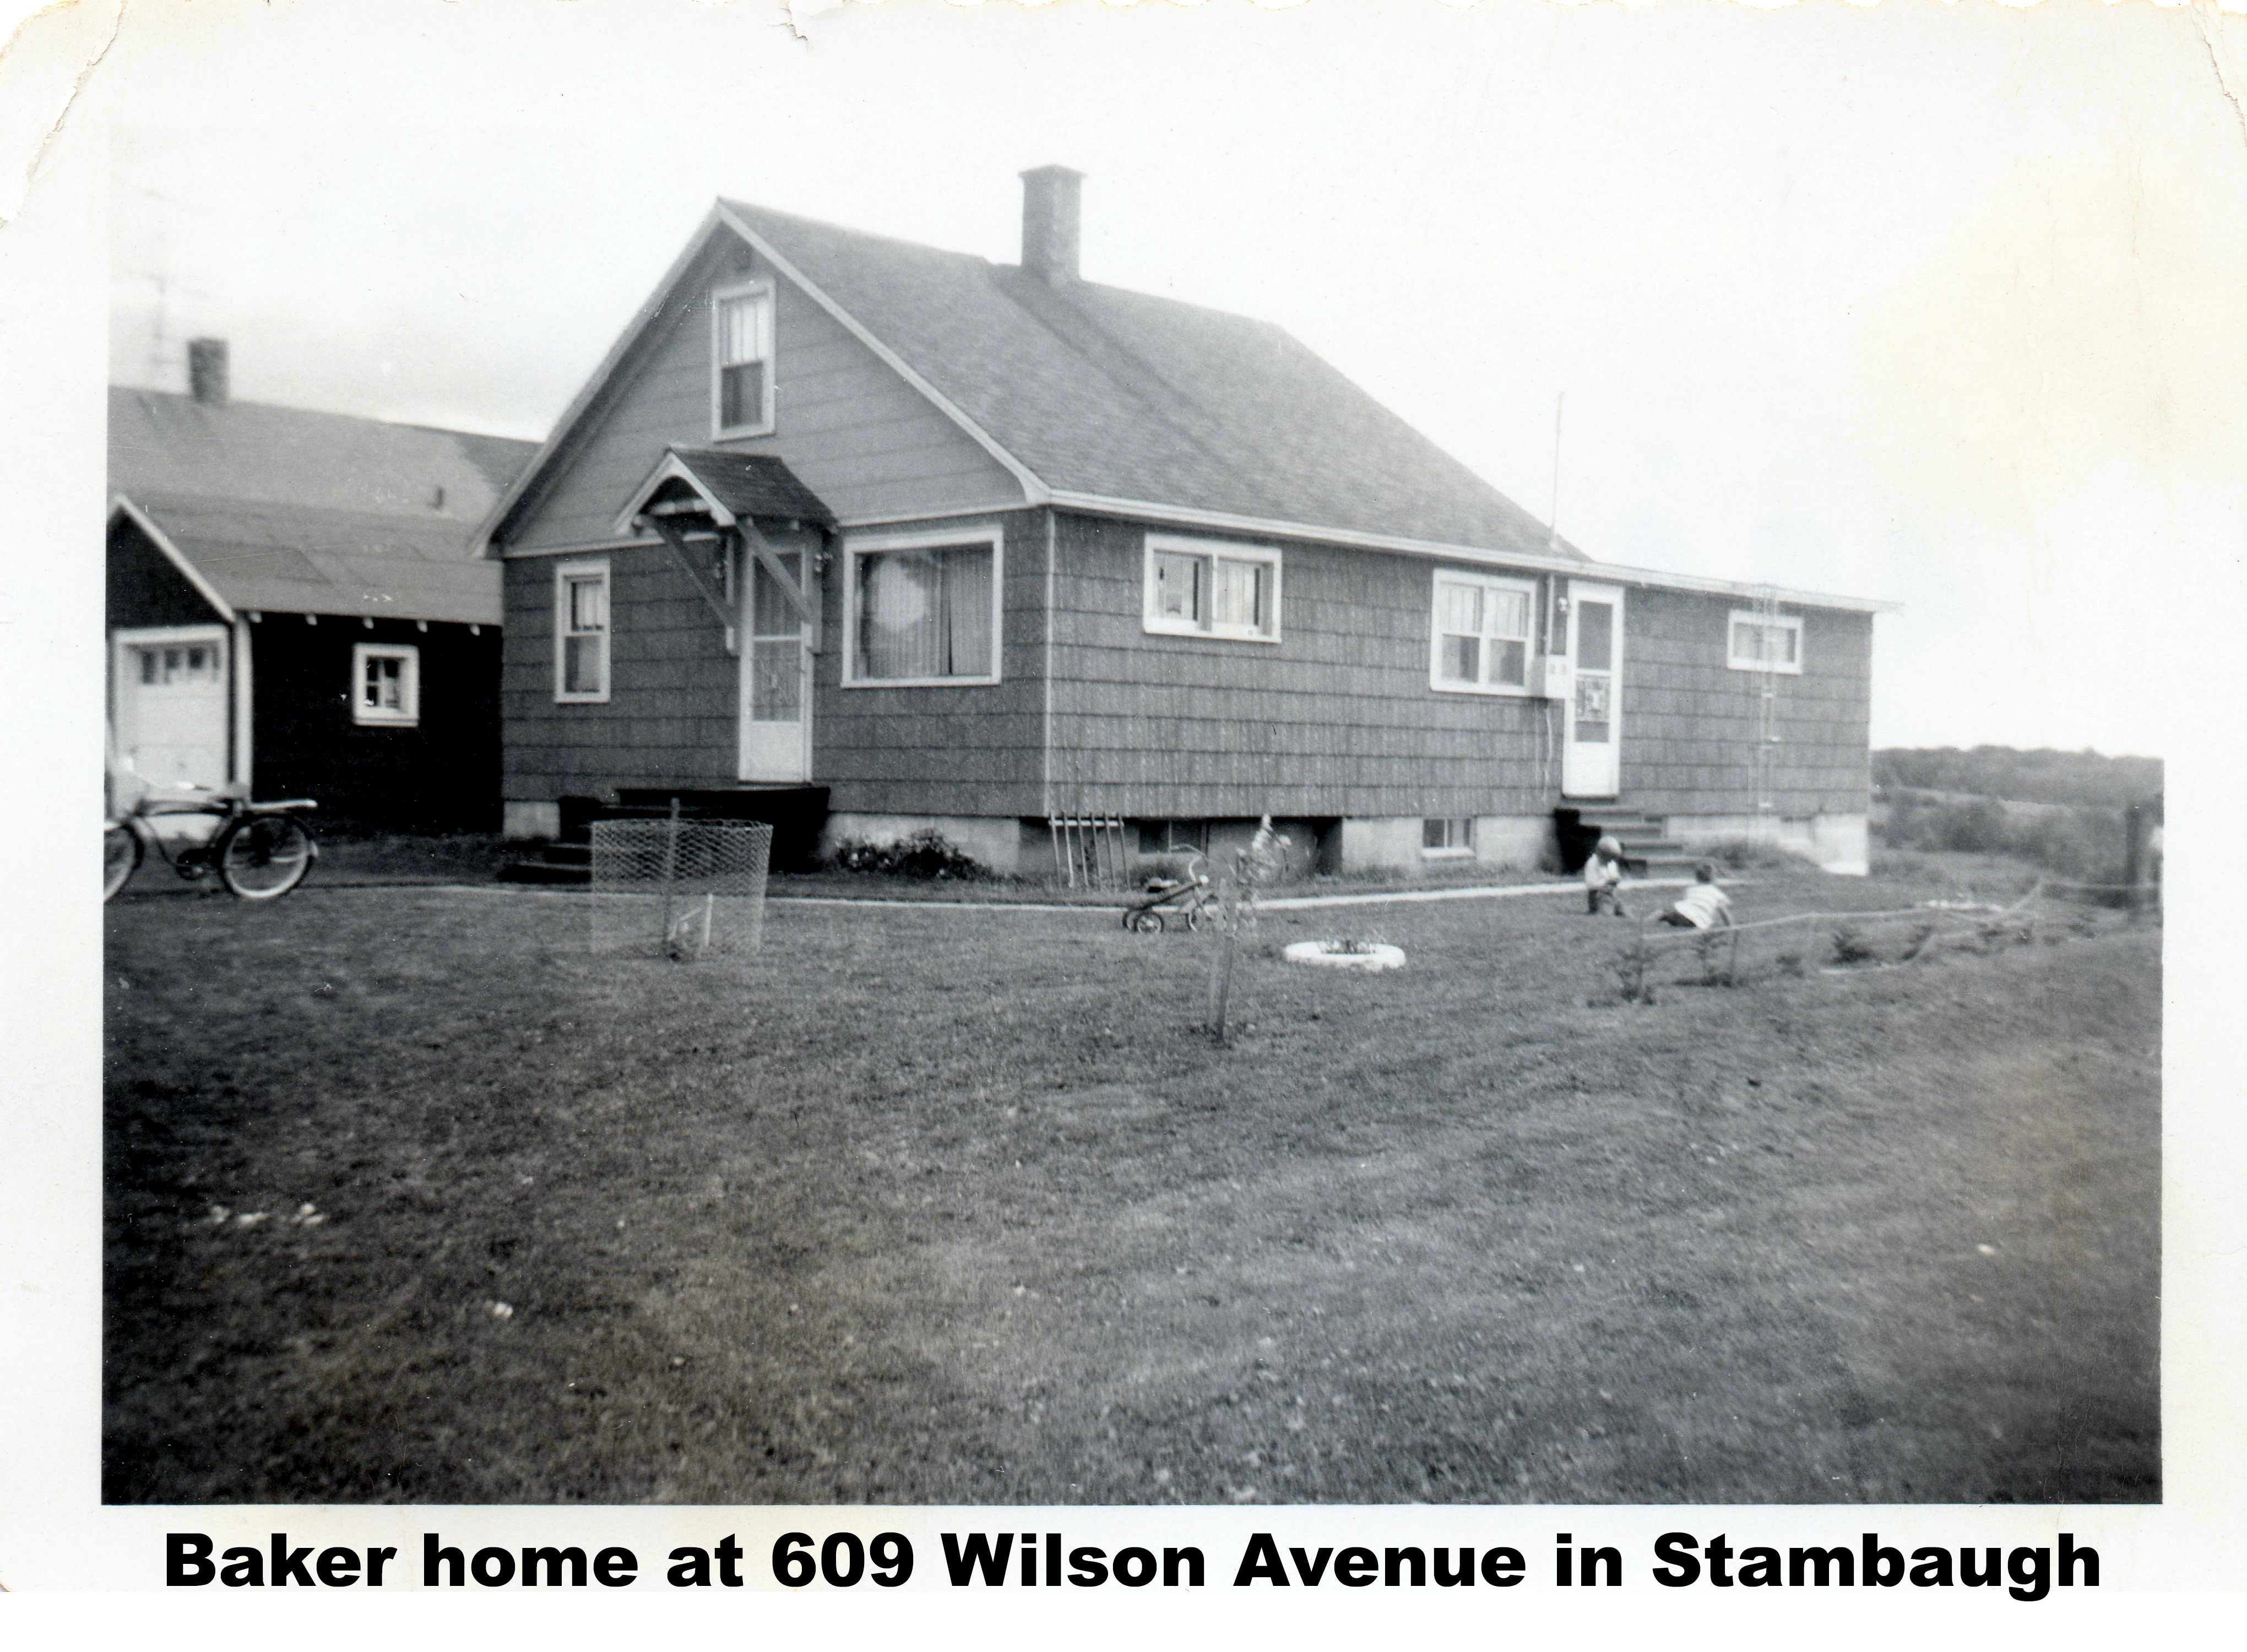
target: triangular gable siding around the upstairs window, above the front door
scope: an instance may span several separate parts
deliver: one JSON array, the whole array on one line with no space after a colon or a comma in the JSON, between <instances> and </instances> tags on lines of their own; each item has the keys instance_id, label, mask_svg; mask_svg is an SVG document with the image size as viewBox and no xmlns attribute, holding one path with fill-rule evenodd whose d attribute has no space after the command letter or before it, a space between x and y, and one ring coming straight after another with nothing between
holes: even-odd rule
<instances>
[{"instance_id":1,"label":"triangular gable siding around the upstairs window, above the front door","mask_svg":"<svg viewBox=\"0 0 2247 1652\"><path fill-rule=\"evenodd\" d=\"M775 279L775 429L712 443L708 294L762 274L771 272L737 240L715 245L649 326L638 360L611 380L607 407L580 425L510 548L613 539L616 512L672 443L777 454L843 519L1020 503L1022 488L995 459L784 279Z\"/></svg>"}]
</instances>

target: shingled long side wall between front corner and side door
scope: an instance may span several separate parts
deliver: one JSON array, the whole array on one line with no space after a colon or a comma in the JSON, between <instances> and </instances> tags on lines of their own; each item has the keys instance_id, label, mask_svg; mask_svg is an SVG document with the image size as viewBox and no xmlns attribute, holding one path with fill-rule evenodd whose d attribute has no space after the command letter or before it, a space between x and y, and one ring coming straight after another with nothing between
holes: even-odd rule
<instances>
[{"instance_id":1,"label":"shingled long side wall between front corner and side door","mask_svg":"<svg viewBox=\"0 0 2247 1652\"><path fill-rule=\"evenodd\" d=\"M1434 569L1281 548L1281 641L1150 636L1144 528L1061 517L1054 793L1137 818L1553 807L1544 701L1429 688Z\"/></svg>"}]
</instances>

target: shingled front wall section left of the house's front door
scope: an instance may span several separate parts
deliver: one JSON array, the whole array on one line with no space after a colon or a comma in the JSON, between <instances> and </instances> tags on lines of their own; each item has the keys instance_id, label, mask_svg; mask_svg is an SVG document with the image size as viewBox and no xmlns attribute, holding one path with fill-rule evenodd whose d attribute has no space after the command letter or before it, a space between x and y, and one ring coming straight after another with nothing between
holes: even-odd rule
<instances>
[{"instance_id":1,"label":"shingled front wall section left of the house's front door","mask_svg":"<svg viewBox=\"0 0 2247 1652\"><path fill-rule=\"evenodd\" d=\"M501 796L555 802L616 787L733 784L739 674L717 614L663 546L600 557L611 632L604 706L555 704L555 569L573 557L506 564Z\"/></svg>"}]
</instances>

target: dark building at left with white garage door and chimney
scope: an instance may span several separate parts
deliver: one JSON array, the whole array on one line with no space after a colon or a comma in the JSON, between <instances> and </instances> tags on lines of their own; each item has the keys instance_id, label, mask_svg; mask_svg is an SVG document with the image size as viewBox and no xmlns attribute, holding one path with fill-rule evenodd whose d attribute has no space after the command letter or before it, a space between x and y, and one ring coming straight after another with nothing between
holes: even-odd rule
<instances>
[{"instance_id":1,"label":"dark building at left with white garage door and chimney","mask_svg":"<svg viewBox=\"0 0 2247 1652\"><path fill-rule=\"evenodd\" d=\"M346 829L499 823L499 573L472 535L533 443L110 389L110 728L148 780Z\"/></svg>"}]
</instances>

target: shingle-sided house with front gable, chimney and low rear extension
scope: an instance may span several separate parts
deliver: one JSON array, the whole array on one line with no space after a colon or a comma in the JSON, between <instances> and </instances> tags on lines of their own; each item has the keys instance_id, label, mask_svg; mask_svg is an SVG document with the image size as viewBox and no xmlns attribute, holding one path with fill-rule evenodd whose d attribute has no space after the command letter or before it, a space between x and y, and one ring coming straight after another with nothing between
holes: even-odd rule
<instances>
[{"instance_id":1,"label":"shingle-sided house with front gable, chimney and low rear extension","mask_svg":"<svg viewBox=\"0 0 2247 1652\"><path fill-rule=\"evenodd\" d=\"M1265 814L1532 865L1557 809L1865 870L1878 602L1591 562L1285 330L1081 279L1079 173L1022 189L1020 265L712 207L485 524L510 836L816 787L829 843L1002 870Z\"/></svg>"}]
</instances>

